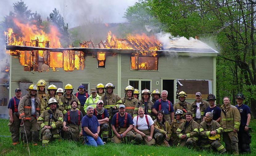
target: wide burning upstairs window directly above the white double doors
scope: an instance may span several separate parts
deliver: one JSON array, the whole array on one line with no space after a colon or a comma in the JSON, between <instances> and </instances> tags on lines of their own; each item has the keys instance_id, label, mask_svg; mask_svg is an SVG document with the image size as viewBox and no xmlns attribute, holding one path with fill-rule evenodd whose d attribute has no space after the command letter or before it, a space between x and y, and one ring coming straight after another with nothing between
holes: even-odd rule
<instances>
[{"instance_id":1,"label":"wide burning upstairs window directly above the white double doors","mask_svg":"<svg viewBox=\"0 0 256 156\"><path fill-rule=\"evenodd\" d=\"M158 70L157 57L131 56L131 69L133 70Z\"/></svg>"}]
</instances>

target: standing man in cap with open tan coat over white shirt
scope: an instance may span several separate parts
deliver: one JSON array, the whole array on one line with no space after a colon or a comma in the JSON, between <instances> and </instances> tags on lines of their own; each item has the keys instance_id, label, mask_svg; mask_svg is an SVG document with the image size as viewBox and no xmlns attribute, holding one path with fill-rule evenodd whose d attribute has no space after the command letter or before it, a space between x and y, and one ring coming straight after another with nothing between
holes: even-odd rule
<instances>
[{"instance_id":1,"label":"standing man in cap with open tan coat over white shirt","mask_svg":"<svg viewBox=\"0 0 256 156\"><path fill-rule=\"evenodd\" d=\"M188 110L192 112L194 120L200 124L204 118L204 111L209 107L209 103L202 99L202 94L196 92L196 100L189 106Z\"/></svg>"}]
</instances>

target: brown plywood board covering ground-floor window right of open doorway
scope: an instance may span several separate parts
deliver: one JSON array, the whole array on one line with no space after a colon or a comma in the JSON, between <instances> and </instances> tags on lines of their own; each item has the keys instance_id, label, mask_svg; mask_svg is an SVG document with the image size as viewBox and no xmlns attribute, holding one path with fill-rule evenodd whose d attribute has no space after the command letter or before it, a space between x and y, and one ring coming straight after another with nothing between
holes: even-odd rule
<instances>
[{"instance_id":1,"label":"brown plywood board covering ground-floor window right of open doorway","mask_svg":"<svg viewBox=\"0 0 256 156\"><path fill-rule=\"evenodd\" d=\"M208 94L212 94L212 81L177 79L177 93L180 91L186 92L187 98L195 98L196 92L200 92L202 98L207 99Z\"/></svg>"}]
</instances>

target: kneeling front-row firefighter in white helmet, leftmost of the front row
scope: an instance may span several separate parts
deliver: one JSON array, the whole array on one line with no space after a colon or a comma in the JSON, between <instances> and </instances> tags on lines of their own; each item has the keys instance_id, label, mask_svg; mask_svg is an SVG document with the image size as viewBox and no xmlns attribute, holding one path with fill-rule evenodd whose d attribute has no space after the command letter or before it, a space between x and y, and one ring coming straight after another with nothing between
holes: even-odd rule
<instances>
[{"instance_id":1,"label":"kneeling front-row firefighter in white helmet, leftmost of the front row","mask_svg":"<svg viewBox=\"0 0 256 156\"><path fill-rule=\"evenodd\" d=\"M59 128L63 123L63 114L57 109L58 101L56 98L50 98L47 102L50 107L49 110L43 111L39 116L37 123L42 128L42 146L46 147L49 141L60 138Z\"/></svg>"}]
</instances>

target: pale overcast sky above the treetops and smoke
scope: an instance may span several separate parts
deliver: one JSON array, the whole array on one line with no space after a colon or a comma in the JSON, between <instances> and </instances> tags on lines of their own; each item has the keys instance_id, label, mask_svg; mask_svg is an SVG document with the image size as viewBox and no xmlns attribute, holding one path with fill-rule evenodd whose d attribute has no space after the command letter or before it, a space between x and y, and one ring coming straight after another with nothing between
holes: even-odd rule
<instances>
[{"instance_id":1,"label":"pale overcast sky above the treetops and smoke","mask_svg":"<svg viewBox=\"0 0 256 156\"><path fill-rule=\"evenodd\" d=\"M0 0L1 20L9 11L13 11L13 3L18 0ZM64 16L70 27L79 26L88 21L103 23L126 22L123 18L128 6L138 0L24 0L28 9L37 11L43 19L56 8Z\"/></svg>"}]
</instances>

